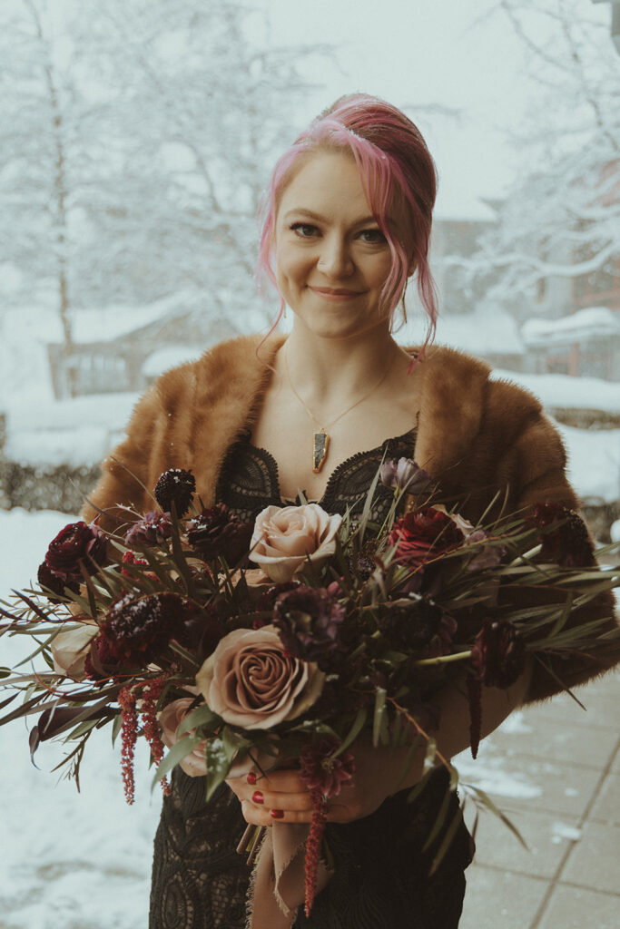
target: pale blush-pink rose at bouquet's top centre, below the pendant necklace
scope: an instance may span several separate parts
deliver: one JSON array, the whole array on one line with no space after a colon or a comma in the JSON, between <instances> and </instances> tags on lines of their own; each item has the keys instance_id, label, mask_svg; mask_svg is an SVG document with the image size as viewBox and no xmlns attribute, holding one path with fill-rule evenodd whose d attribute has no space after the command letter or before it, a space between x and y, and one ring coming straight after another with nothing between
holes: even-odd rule
<instances>
[{"instance_id":1,"label":"pale blush-pink rose at bouquet's top centre, below the pendant necklace","mask_svg":"<svg viewBox=\"0 0 620 929\"><path fill-rule=\"evenodd\" d=\"M290 581L310 558L321 564L336 551L342 517L331 516L319 504L267 506L257 516L250 559L271 581Z\"/></svg>"}]
</instances>

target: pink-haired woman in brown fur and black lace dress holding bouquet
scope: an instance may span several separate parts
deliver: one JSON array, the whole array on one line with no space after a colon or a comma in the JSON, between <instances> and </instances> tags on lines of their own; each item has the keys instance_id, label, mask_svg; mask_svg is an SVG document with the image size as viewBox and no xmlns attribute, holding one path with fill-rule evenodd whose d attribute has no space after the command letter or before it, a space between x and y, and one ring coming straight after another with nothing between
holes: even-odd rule
<instances>
[{"instance_id":1,"label":"pink-haired woman in brown fur and black lace dress holding bouquet","mask_svg":"<svg viewBox=\"0 0 620 929\"><path fill-rule=\"evenodd\" d=\"M384 453L415 457L443 491L465 502L468 517L480 517L498 490L513 509L575 505L560 438L533 397L490 382L481 362L434 347L410 355L391 336L414 274L434 326L428 253L435 189L424 140L389 104L342 98L310 125L276 165L263 216L260 266L294 313L292 332L286 340L234 340L159 380L93 494L110 525L123 518L114 504L149 509L143 488L169 467L191 468L205 505L218 500L244 518L294 501L299 491L344 512L359 507ZM382 505L379 495L379 511ZM93 515L90 508L86 516ZM600 667L559 670L570 685ZM487 688L485 731L523 700L560 688L540 669L528 669L508 695ZM462 691L446 688L438 709L435 735L450 757L468 745ZM402 758L369 749L364 739L354 753L354 786L328 809L335 876L310 919L301 910L284 917L263 900L255 929L457 925L471 857L467 831L461 828L432 876L442 834L424 848L444 793L442 772L407 805L421 759L399 783ZM260 791L253 781L231 778L206 806L202 779L175 773L155 842L151 929L244 925L249 873L234 848L245 824L311 816L294 771L272 773Z\"/></svg>"}]
</instances>

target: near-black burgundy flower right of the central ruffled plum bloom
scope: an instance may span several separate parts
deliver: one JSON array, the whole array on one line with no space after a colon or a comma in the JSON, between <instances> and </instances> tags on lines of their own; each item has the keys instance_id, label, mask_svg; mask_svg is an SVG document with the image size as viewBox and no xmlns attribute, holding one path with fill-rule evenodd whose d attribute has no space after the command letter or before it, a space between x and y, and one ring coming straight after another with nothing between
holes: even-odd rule
<instances>
[{"instance_id":1,"label":"near-black burgundy flower right of the central ruffled plum bloom","mask_svg":"<svg viewBox=\"0 0 620 929\"><path fill-rule=\"evenodd\" d=\"M450 654L456 622L437 604L420 598L386 607L379 627L394 648L419 653L421 658Z\"/></svg>"}]
</instances>

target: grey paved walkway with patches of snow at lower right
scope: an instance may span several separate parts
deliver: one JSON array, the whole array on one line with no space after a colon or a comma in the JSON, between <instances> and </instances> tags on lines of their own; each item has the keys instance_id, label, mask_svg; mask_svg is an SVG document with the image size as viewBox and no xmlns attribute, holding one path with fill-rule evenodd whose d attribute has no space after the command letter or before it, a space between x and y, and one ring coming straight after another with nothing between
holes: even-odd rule
<instances>
[{"instance_id":1,"label":"grey paved walkway with patches of snow at lower right","mask_svg":"<svg viewBox=\"0 0 620 929\"><path fill-rule=\"evenodd\" d=\"M481 815L459 929L620 929L620 674L575 692L587 712L562 694L457 762L463 781L495 778L529 846Z\"/></svg>"}]
</instances>

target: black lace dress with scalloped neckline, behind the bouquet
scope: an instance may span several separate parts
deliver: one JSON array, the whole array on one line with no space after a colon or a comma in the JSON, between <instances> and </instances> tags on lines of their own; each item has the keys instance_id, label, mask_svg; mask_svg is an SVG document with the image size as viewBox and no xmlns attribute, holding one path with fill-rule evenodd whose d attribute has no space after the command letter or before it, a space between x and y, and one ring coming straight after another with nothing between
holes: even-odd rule
<instances>
[{"instance_id":1,"label":"black lace dress with scalloped neckline, behind the bouquet","mask_svg":"<svg viewBox=\"0 0 620 929\"><path fill-rule=\"evenodd\" d=\"M278 467L268 451L235 443L223 465L218 501L244 520L265 506L283 505ZM411 457L415 430L363 451L338 465L319 503L330 513L361 508L378 464ZM381 522L391 491L376 489L371 518ZM389 797L371 816L346 824L328 823L326 839L336 873L316 897L310 918L302 908L295 929L455 929L471 856L471 841L459 827L449 851L429 875L444 830L429 849L424 844L445 795L446 773L439 769L412 804L409 790ZM457 812L451 798L445 828ZM244 829L241 805L222 784L204 804L204 778L179 768L172 794L165 797L155 836L149 929L244 929L250 870L235 848Z\"/></svg>"}]
</instances>

